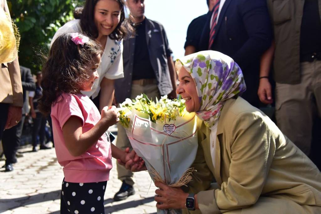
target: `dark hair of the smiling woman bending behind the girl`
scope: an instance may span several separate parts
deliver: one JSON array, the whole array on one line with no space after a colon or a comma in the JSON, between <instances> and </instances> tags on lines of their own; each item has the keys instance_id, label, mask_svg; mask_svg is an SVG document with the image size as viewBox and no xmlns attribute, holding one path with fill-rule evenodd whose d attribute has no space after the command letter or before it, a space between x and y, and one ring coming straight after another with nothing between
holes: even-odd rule
<instances>
[{"instance_id":1,"label":"dark hair of the smiling woman bending behind the girl","mask_svg":"<svg viewBox=\"0 0 321 214\"><path fill-rule=\"evenodd\" d=\"M80 14L80 26L82 31L87 33L91 39L96 39L98 37L98 29L94 21L94 11L98 1L100 0L86 0L83 9L78 9L76 12L76 17ZM121 40L131 36L135 30L128 19L125 18L124 0L114 1L117 1L120 7L120 21L115 30L109 35L109 38L113 40Z\"/></svg>"}]
</instances>

